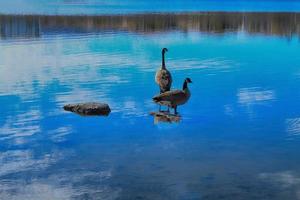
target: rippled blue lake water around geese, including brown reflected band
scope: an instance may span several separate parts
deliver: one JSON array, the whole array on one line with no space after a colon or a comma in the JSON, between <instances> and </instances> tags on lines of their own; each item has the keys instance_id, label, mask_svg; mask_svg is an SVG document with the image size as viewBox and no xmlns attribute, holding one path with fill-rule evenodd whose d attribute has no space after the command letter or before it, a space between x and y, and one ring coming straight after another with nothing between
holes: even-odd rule
<instances>
[{"instance_id":1,"label":"rippled blue lake water around geese, including brown reflected band","mask_svg":"<svg viewBox=\"0 0 300 200\"><path fill-rule=\"evenodd\" d=\"M0 16L0 199L300 199L300 15ZM157 111L167 47L181 121ZM108 117L68 103L107 102Z\"/></svg>"}]
</instances>

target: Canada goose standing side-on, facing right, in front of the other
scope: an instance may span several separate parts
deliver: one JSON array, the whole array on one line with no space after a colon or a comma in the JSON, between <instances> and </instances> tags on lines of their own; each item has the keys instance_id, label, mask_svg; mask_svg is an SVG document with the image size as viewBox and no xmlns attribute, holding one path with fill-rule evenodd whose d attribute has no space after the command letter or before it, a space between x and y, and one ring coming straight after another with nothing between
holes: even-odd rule
<instances>
[{"instance_id":1,"label":"Canada goose standing side-on, facing right, in front of the other","mask_svg":"<svg viewBox=\"0 0 300 200\"><path fill-rule=\"evenodd\" d=\"M159 105L174 108L174 114L177 114L177 106L185 104L191 92L188 88L188 83L192 83L190 78L186 78L183 82L182 90L171 90L153 97L153 101Z\"/></svg>"}]
</instances>

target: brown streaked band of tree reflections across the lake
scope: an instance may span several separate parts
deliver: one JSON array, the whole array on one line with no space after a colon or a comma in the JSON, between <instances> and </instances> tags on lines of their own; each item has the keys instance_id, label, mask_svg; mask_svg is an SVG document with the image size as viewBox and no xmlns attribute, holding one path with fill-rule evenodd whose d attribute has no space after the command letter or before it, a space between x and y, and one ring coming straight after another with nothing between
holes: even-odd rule
<instances>
[{"instance_id":1,"label":"brown streaked band of tree reflections across the lake","mask_svg":"<svg viewBox=\"0 0 300 200\"><path fill-rule=\"evenodd\" d=\"M113 16L0 15L0 37L39 37L51 31L164 31L300 35L300 13L178 13Z\"/></svg>"}]
</instances>

